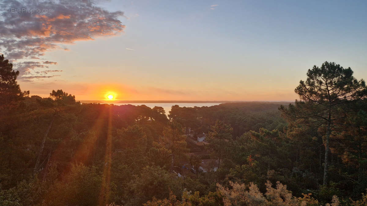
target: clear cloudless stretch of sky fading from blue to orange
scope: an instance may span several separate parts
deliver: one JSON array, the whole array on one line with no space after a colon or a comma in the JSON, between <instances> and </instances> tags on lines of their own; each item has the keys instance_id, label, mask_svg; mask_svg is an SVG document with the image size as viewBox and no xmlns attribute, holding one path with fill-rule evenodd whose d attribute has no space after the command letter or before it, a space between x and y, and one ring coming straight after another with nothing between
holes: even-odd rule
<instances>
[{"instance_id":1,"label":"clear cloudless stretch of sky fading from blue to orange","mask_svg":"<svg viewBox=\"0 0 367 206\"><path fill-rule=\"evenodd\" d=\"M47 52L61 76L42 81L50 88L21 85L38 95L65 87L77 99L111 90L126 100L294 100L306 71L326 60L367 77L367 1L112 0L98 6L123 11L124 32Z\"/></svg>"}]
</instances>

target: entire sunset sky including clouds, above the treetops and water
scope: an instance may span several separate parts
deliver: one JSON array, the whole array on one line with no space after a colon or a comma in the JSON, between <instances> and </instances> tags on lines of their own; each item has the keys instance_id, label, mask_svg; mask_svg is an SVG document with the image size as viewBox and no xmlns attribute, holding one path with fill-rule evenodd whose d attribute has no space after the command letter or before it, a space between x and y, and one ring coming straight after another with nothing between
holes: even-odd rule
<instances>
[{"instance_id":1,"label":"entire sunset sky including clouds, above the treetops and water","mask_svg":"<svg viewBox=\"0 0 367 206\"><path fill-rule=\"evenodd\" d=\"M0 0L0 8L0 54L31 95L293 101L299 80L325 61L367 78L367 1Z\"/></svg>"}]
</instances>

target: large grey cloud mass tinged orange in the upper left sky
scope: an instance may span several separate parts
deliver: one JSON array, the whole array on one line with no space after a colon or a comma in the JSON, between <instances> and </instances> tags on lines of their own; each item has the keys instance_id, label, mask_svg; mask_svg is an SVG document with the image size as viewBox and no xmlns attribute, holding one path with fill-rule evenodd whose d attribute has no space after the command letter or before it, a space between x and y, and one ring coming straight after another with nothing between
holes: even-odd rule
<instances>
[{"instance_id":1,"label":"large grey cloud mass tinged orange in the upper left sky","mask_svg":"<svg viewBox=\"0 0 367 206\"><path fill-rule=\"evenodd\" d=\"M47 51L68 50L67 44L115 36L125 28L118 19L124 16L122 11L109 12L98 7L93 0L3 0L0 1L0 8L37 8L40 11L1 10L0 51L10 60L40 59ZM29 71L56 64L46 60L42 63L22 62L14 66L18 70Z\"/></svg>"}]
</instances>

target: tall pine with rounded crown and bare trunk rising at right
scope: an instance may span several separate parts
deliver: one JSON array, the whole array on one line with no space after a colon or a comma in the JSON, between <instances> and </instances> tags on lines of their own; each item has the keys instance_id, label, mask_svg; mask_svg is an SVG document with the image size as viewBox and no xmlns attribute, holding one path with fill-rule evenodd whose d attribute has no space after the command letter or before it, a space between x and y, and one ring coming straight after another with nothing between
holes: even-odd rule
<instances>
[{"instance_id":1,"label":"tall pine with rounded crown and bare trunk rising at right","mask_svg":"<svg viewBox=\"0 0 367 206\"><path fill-rule=\"evenodd\" d=\"M353 71L334 62L324 62L321 67L313 66L307 72L307 80L300 81L295 93L300 101L280 110L290 121L306 124L312 129L323 131L325 144L323 184L327 184L330 136L334 124L345 118L338 108L367 97L364 80L357 81Z\"/></svg>"}]
</instances>

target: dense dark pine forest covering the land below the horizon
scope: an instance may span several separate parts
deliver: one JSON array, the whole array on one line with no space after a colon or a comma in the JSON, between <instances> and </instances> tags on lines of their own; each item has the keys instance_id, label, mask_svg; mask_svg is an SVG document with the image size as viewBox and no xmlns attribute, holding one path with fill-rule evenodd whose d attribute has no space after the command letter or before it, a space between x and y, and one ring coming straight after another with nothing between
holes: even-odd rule
<instances>
[{"instance_id":1,"label":"dense dark pine forest covering the land below the horizon","mask_svg":"<svg viewBox=\"0 0 367 206\"><path fill-rule=\"evenodd\" d=\"M0 205L367 205L367 88L334 62L299 99L211 107L30 96L0 57ZM204 140L203 140L204 139Z\"/></svg>"}]
</instances>

